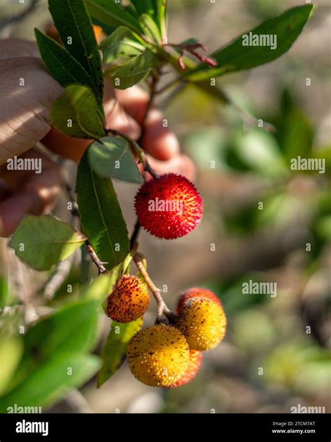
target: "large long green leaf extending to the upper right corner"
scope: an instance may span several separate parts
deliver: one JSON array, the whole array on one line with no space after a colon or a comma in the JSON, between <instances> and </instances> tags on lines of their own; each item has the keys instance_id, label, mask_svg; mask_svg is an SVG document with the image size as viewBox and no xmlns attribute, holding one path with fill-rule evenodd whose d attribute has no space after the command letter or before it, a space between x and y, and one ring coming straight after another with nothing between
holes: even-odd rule
<instances>
[{"instance_id":1,"label":"large long green leaf extending to the upper right corner","mask_svg":"<svg viewBox=\"0 0 331 442\"><path fill-rule=\"evenodd\" d=\"M279 17L266 20L258 27L242 34L230 45L214 52L211 57L217 61L216 68L199 65L193 71L186 73L184 78L190 81L207 80L274 61L293 45L309 19L313 7L311 4L296 6L286 10ZM258 35L276 35L277 47L272 50L269 46L244 46L242 37L249 35L250 32Z\"/></svg>"}]
</instances>

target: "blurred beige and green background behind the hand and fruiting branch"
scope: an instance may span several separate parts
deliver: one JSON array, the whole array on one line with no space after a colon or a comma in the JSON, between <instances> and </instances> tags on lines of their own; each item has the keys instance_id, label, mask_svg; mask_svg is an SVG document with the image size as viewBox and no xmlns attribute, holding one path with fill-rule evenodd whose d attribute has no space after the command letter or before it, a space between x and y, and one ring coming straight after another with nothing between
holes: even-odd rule
<instances>
[{"instance_id":1,"label":"blurred beige and green background behind the hand and fruiting branch","mask_svg":"<svg viewBox=\"0 0 331 442\"><path fill-rule=\"evenodd\" d=\"M17 3L0 0L0 23L15 15ZM193 36L212 52L303 3L169 0L169 41ZM49 25L47 2L38 1L31 13L2 27L1 38L33 39L34 27ZM331 411L330 25L330 1L316 1L313 17L284 56L222 77L219 84L235 105L195 87L159 98L182 149L196 162L205 215L199 228L173 242L143 232L140 249L170 307L193 286L219 296L228 316L226 339L204 353L200 374L182 388L149 388L124 363L100 389L92 379L48 412L290 413L298 404ZM274 130L258 128L248 114ZM325 159L325 173L291 170L297 156ZM64 167L75 172L70 162ZM137 188L115 185L131 230ZM53 214L71 221L66 196ZM78 287L79 258L75 253L68 278L45 300L49 275L28 269L1 240L1 302L24 300L33 320L69 296L67 283ZM277 283L277 296L243 294L242 283L250 280ZM147 324L154 322L154 307L152 300Z\"/></svg>"}]
</instances>

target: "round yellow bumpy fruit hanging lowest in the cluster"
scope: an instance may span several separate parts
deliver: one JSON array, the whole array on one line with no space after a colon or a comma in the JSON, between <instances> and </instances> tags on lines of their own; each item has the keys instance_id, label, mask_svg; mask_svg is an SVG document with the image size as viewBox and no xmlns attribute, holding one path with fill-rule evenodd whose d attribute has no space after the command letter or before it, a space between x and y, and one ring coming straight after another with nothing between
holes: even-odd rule
<instances>
[{"instance_id":1,"label":"round yellow bumpy fruit hanging lowest in the cluster","mask_svg":"<svg viewBox=\"0 0 331 442\"><path fill-rule=\"evenodd\" d=\"M189 345L177 328L152 325L137 332L126 351L128 367L138 381L152 387L175 383L189 365Z\"/></svg>"}]
</instances>

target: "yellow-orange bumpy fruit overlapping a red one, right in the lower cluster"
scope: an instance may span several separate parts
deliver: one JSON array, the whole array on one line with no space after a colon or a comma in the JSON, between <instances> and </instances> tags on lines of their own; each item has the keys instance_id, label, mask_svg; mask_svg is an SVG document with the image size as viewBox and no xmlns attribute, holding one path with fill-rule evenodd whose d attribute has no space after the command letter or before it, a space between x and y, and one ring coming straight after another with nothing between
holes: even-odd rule
<instances>
[{"instance_id":1,"label":"yellow-orange bumpy fruit overlapping a red one, right in the lower cluster","mask_svg":"<svg viewBox=\"0 0 331 442\"><path fill-rule=\"evenodd\" d=\"M191 349L209 350L219 344L226 333L226 315L216 302L193 297L182 305L175 325Z\"/></svg>"}]
</instances>

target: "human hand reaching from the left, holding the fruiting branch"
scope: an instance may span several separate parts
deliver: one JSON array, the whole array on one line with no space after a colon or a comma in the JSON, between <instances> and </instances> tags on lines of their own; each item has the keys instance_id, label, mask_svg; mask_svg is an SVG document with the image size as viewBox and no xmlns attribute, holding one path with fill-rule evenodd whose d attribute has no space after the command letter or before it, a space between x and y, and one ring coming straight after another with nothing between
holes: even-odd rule
<instances>
[{"instance_id":1,"label":"human hand reaching from the left, holding the fruiting branch","mask_svg":"<svg viewBox=\"0 0 331 442\"><path fill-rule=\"evenodd\" d=\"M45 70L35 43L0 40L0 236L13 233L25 214L39 215L50 209L59 193L59 167L34 149L36 143L41 141L55 154L76 162L91 143L70 138L50 126L50 105L63 91ZM138 87L125 91L106 87L108 127L138 140L148 100L148 94ZM149 112L142 147L159 174L177 172L192 179L193 163L180 154L179 142L163 127L159 110ZM41 173L8 170L7 160L14 156L41 159Z\"/></svg>"}]
</instances>

